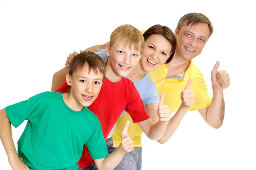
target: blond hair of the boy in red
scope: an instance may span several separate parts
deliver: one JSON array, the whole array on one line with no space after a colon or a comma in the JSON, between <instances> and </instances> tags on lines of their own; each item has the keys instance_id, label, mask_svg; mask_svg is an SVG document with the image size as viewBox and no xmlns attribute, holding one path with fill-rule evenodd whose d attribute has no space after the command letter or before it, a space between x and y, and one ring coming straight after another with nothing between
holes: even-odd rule
<instances>
[{"instance_id":1,"label":"blond hair of the boy in red","mask_svg":"<svg viewBox=\"0 0 256 170\"><path fill-rule=\"evenodd\" d=\"M113 47L115 43L121 43L126 48L140 51L140 54L142 54L145 45L144 37L140 30L128 24L117 27L111 33L109 46Z\"/></svg>"}]
</instances>

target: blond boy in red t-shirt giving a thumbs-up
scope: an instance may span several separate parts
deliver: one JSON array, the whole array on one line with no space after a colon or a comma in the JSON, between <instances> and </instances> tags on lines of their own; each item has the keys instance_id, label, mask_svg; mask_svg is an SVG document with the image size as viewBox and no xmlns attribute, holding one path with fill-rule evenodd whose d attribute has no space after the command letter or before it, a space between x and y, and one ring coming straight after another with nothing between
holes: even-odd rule
<instances>
[{"instance_id":1,"label":"blond boy in red t-shirt giving a thumbs-up","mask_svg":"<svg viewBox=\"0 0 256 170\"><path fill-rule=\"evenodd\" d=\"M131 25L117 27L111 34L110 43L106 52L106 80L102 85L99 96L88 108L95 113L102 125L102 132L107 139L108 134L115 125L122 111L127 111L134 123L138 123L149 139L158 140L163 136L170 120L168 105L163 105L161 97L158 107L159 122L153 123L146 112L140 94L131 80L124 78L140 61L144 49L144 37L140 31ZM56 75L64 77L66 68L61 69ZM53 79L53 84L55 79ZM67 82L64 82L56 92L67 91ZM162 95L163 96L163 95ZM93 98L94 96L87 96ZM84 146L83 154L79 160L79 168L87 170L93 165L93 159Z\"/></svg>"}]
</instances>

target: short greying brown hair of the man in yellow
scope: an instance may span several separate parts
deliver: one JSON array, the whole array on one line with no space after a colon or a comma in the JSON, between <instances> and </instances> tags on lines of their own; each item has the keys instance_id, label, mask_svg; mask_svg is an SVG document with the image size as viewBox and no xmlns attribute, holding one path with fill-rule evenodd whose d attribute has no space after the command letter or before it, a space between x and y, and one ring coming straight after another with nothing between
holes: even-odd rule
<instances>
[{"instance_id":1,"label":"short greying brown hair of the man in yellow","mask_svg":"<svg viewBox=\"0 0 256 170\"><path fill-rule=\"evenodd\" d=\"M209 20L209 18L207 18L204 14L201 14L201 13L194 12L194 13L186 14L183 17L181 17L177 24L177 30L179 31L182 26L188 26L189 24L193 25L198 23L208 24L210 28L209 37L211 37L213 33L212 22Z\"/></svg>"}]
</instances>

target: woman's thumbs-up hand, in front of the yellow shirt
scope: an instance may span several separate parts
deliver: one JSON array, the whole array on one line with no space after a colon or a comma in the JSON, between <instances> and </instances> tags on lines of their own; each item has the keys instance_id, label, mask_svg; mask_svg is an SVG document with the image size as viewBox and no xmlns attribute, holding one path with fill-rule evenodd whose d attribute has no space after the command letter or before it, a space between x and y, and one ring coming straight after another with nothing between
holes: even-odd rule
<instances>
[{"instance_id":1,"label":"woman's thumbs-up hand, in front of the yellow shirt","mask_svg":"<svg viewBox=\"0 0 256 170\"><path fill-rule=\"evenodd\" d=\"M195 103L195 94L192 90L189 90L191 84L192 84L192 77L189 78L189 81L186 87L180 94L180 98L182 102L181 106L186 109L191 108Z\"/></svg>"}]
</instances>

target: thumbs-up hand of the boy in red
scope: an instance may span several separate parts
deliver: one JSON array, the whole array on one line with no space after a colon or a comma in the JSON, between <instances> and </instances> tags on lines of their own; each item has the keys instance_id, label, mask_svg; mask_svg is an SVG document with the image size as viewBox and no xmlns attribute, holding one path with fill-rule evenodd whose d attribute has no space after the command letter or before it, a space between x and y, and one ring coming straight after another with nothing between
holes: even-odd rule
<instances>
[{"instance_id":1,"label":"thumbs-up hand of the boy in red","mask_svg":"<svg viewBox=\"0 0 256 170\"><path fill-rule=\"evenodd\" d=\"M165 93L163 92L160 96L160 102L157 109L157 115L161 122L168 123L171 118L171 111L169 105L164 105Z\"/></svg>"}]
</instances>

